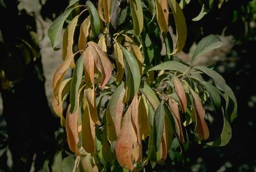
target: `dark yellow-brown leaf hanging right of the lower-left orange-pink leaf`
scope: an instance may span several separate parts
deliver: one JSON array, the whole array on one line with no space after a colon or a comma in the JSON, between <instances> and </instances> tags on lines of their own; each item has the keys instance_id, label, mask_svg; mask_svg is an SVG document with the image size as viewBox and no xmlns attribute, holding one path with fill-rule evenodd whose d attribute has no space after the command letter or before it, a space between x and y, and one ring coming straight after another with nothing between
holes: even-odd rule
<instances>
[{"instance_id":1,"label":"dark yellow-brown leaf hanging right of the lower-left orange-pink leaf","mask_svg":"<svg viewBox=\"0 0 256 172\"><path fill-rule=\"evenodd\" d=\"M94 90L93 90L94 91ZM89 101L84 99L82 116L82 146L87 153L95 152L95 124L92 121Z\"/></svg>"}]
</instances>

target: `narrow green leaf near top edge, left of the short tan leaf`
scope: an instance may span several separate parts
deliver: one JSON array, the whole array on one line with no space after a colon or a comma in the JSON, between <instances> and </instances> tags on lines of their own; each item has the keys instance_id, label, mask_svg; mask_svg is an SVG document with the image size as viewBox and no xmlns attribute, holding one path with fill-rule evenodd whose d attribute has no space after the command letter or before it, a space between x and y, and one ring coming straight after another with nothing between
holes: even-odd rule
<instances>
[{"instance_id":1,"label":"narrow green leaf near top edge, left of the short tan leaf","mask_svg":"<svg viewBox=\"0 0 256 172\"><path fill-rule=\"evenodd\" d=\"M99 20L98 11L95 8L95 6L93 5L93 3L89 0L86 1L86 5L87 5L87 8L91 15L90 20L91 20L91 28L92 28L93 37L97 37L97 35L99 34L99 29L100 29L100 20Z\"/></svg>"}]
</instances>

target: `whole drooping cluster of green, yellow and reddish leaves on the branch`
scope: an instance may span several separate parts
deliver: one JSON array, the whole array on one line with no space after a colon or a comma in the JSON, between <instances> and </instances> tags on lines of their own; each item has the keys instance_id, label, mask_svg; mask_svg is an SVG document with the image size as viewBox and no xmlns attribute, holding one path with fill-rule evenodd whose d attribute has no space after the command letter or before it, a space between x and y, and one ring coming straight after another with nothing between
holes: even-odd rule
<instances>
[{"instance_id":1,"label":"whole drooping cluster of green, yellow and reddish leaves on the branch","mask_svg":"<svg viewBox=\"0 0 256 172\"><path fill-rule=\"evenodd\" d=\"M71 156L62 161L60 152L55 157L60 163L69 158L74 170L80 164L85 171L139 171L148 163L163 162L171 147L186 150L193 141L188 135L208 146L228 143L230 123L237 115L233 91L211 67L193 65L200 55L220 47L220 38L203 38L190 64L172 58L187 36L182 2L189 1L71 0L53 21L48 34L55 50L63 40L63 63L53 77L52 106L77 157L76 162ZM175 46L169 25L176 28ZM155 51L153 37L160 35L164 59ZM64 79L69 68L72 77ZM205 105L223 118L216 138L208 129Z\"/></svg>"}]
</instances>

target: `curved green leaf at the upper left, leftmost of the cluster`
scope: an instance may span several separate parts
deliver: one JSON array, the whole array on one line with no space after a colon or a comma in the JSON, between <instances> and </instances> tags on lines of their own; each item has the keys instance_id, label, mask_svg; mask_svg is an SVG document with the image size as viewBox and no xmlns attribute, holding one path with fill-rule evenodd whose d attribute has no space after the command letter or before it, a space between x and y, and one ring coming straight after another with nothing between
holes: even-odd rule
<instances>
[{"instance_id":1,"label":"curved green leaf at the upper left, leftmost of the cluster","mask_svg":"<svg viewBox=\"0 0 256 172\"><path fill-rule=\"evenodd\" d=\"M58 18L56 18L52 25L50 26L48 30L48 36L51 41L51 46L53 49L58 50L57 45L59 44L59 41L62 36L62 27L64 24L65 19L70 15L71 11L75 9L76 7L70 8L62 13Z\"/></svg>"}]
</instances>

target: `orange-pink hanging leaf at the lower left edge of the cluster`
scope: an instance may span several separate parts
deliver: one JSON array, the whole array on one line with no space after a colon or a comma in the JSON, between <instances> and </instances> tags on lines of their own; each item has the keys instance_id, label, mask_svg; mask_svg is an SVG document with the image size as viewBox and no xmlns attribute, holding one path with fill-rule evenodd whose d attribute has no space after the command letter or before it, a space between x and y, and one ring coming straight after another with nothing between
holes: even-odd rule
<instances>
[{"instance_id":1,"label":"orange-pink hanging leaf at the lower left edge of the cluster","mask_svg":"<svg viewBox=\"0 0 256 172\"><path fill-rule=\"evenodd\" d=\"M68 137L69 148L72 152L77 152L78 138L78 109L74 113L70 113L70 105L66 113L66 135Z\"/></svg>"}]
</instances>

